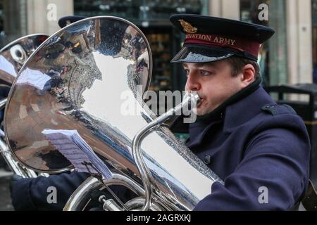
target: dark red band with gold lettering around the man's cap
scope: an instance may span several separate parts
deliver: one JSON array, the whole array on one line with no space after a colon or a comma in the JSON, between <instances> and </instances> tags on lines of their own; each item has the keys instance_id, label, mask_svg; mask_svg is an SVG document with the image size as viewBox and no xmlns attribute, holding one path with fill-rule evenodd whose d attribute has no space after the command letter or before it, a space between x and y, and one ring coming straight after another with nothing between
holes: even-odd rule
<instances>
[{"instance_id":1,"label":"dark red band with gold lettering around the man's cap","mask_svg":"<svg viewBox=\"0 0 317 225\"><path fill-rule=\"evenodd\" d=\"M239 37L226 37L219 34L186 34L185 44L228 47L238 51L247 51L256 58L259 56L260 49L259 42Z\"/></svg>"}]
</instances>

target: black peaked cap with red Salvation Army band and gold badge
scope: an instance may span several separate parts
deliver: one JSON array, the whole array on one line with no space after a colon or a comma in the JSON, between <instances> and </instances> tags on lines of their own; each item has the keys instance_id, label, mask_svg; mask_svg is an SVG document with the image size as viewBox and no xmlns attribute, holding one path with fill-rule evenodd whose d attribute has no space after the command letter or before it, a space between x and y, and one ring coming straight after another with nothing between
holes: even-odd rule
<instances>
[{"instance_id":1,"label":"black peaked cap with red Salvation Army band and gold badge","mask_svg":"<svg viewBox=\"0 0 317 225\"><path fill-rule=\"evenodd\" d=\"M275 33L270 27L204 15L172 15L170 22L186 34L172 63L208 63L230 56L257 61L261 44Z\"/></svg>"}]
</instances>

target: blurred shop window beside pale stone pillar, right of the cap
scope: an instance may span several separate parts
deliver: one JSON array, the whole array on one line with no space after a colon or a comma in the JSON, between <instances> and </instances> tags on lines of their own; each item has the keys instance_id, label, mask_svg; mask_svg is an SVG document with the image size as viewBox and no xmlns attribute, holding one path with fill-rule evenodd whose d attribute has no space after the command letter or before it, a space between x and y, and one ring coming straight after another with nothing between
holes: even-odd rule
<instances>
[{"instance_id":1,"label":"blurred shop window beside pale stone pillar, right of the cap","mask_svg":"<svg viewBox=\"0 0 317 225\"><path fill-rule=\"evenodd\" d=\"M268 6L268 20L259 20L260 4ZM259 65L263 86L287 83L287 31L285 0L240 0L240 18L244 22L272 27L275 35L261 46Z\"/></svg>"}]
</instances>

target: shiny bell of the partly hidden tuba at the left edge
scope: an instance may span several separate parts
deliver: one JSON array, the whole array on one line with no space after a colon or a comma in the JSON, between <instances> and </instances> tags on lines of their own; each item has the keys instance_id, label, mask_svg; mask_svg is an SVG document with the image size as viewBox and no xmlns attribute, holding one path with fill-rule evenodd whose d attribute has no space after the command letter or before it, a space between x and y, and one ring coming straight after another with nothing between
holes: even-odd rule
<instances>
[{"instance_id":1,"label":"shiny bell of the partly hidden tuba at the left edge","mask_svg":"<svg viewBox=\"0 0 317 225\"><path fill-rule=\"evenodd\" d=\"M0 82L12 84L28 57L49 36L31 34L7 44L0 50Z\"/></svg>"}]
</instances>

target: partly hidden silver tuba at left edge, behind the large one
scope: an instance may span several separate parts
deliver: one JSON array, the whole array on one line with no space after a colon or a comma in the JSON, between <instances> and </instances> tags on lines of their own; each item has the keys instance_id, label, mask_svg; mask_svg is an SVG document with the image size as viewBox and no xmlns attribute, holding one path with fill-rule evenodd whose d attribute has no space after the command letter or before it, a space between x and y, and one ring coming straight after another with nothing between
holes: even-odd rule
<instances>
[{"instance_id":1,"label":"partly hidden silver tuba at left edge, behind the large one","mask_svg":"<svg viewBox=\"0 0 317 225\"><path fill-rule=\"evenodd\" d=\"M8 92L23 64L48 37L46 34L27 35L12 41L0 50L0 110L4 109ZM32 170L20 165L11 151L8 150L8 146L2 137L0 137L0 152L15 174L25 178L37 176Z\"/></svg>"}]
</instances>

